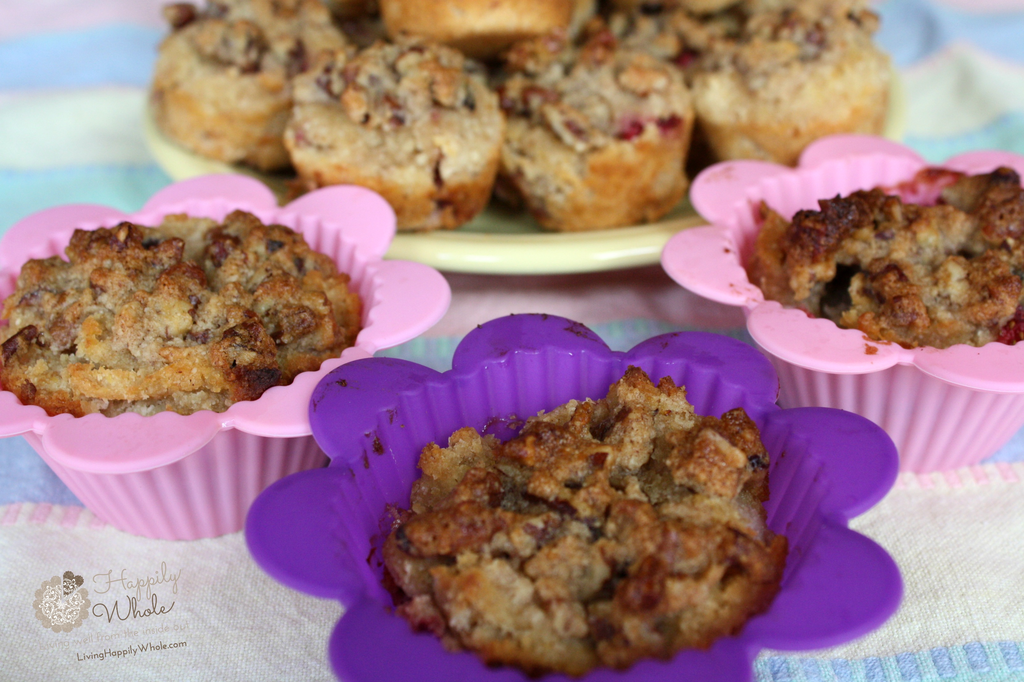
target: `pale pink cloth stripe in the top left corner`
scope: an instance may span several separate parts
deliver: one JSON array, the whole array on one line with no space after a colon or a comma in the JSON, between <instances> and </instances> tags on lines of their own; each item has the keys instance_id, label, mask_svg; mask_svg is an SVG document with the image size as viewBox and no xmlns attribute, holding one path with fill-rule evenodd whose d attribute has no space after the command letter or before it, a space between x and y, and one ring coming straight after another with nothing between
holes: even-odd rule
<instances>
[{"instance_id":1,"label":"pale pink cloth stripe in the top left corner","mask_svg":"<svg viewBox=\"0 0 1024 682\"><path fill-rule=\"evenodd\" d=\"M166 0L4 0L0 40L36 33L74 31L102 24L163 27Z\"/></svg>"}]
</instances>

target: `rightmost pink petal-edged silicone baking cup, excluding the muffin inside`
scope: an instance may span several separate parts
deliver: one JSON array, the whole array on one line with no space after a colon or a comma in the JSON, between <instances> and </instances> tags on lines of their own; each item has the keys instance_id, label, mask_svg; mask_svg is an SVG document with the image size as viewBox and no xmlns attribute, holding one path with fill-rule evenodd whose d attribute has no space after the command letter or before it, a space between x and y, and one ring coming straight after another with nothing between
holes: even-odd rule
<instances>
[{"instance_id":1,"label":"rightmost pink petal-edged silicone baking cup, excluding the muffin inside","mask_svg":"<svg viewBox=\"0 0 1024 682\"><path fill-rule=\"evenodd\" d=\"M837 135L811 144L796 169L765 162L727 162L705 170L690 197L711 221L680 232L662 265L686 288L739 306L754 340L771 359L785 407L838 407L863 415L893 438L901 467L937 471L976 464L1024 425L1024 344L907 350L872 342L856 329L766 301L743 265L765 201L785 218L817 209L820 198L858 189L896 187L929 165L909 148L876 137ZM1024 174L1024 156L976 151L941 168L987 173L1009 166ZM904 200L934 202L941 187L899 187Z\"/></svg>"}]
</instances>

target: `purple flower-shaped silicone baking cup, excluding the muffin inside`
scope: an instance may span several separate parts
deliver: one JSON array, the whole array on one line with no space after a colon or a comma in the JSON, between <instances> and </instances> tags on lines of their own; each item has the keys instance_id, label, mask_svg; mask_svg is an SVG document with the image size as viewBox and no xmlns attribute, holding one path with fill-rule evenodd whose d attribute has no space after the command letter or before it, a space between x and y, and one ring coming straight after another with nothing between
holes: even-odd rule
<instances>
[{"instance_id":1,"label":"purple flower-shaped silicone baking cup, excluding the muffin inside","mask_svg":"<svg viewBox=\"0 0 1024 682\"><path fill-rule=\"evenodd\" d=\"M579 323L517 315L466 336L443 374L384 358L331 372L310 404L313 435L331 466L274 484L250 510L246 538L263 570L345 605L329 644L341 679L525 679L514 669L488 669L473 653L450 653L433 635L413 633L389 612L380 562L373 560L389 530L385 510L408 507L427 443L444 443L466 425L510 438L509 424L521 416L604 397L629 365L685 384L698 413L743 407L755 419L771 455L768 525L788 538L791 552L775 601L738 636L671 662L644 661L625 674L597 670L586 679L750 680L762 647L838 644L895 610L902 589L896 564L847 528L895 480L896 451L882 429L839 410L779 409L771 365L725 336L665 334L615 353Z\"/></svg>"}]
</instances>

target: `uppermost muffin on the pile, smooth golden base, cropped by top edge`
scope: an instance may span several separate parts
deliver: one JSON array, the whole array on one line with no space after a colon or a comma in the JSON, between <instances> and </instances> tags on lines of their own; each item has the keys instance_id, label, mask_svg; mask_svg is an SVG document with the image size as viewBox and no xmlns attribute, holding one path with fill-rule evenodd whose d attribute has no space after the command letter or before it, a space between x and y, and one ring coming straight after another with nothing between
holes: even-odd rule
<instances>
[{"instance_id":1,"label":"uppermost muffin on the pile, smooth golden base, cropped by top edge","mask_svg":"<svg viewBox=\"0 0 1024 682\"><path fill-rule=\"evenodd\" d=\"M594 13L594 0L381 0L388 34L424 36L471 57L493 57L512 43Z\"/></svg>"}]
</instances>

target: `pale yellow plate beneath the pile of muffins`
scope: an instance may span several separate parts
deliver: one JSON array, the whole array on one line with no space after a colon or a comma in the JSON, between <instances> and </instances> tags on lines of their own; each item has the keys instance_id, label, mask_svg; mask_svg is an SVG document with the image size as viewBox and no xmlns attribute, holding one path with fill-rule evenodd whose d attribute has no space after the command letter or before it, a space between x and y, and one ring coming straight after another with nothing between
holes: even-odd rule
<instances>
[{"instance_id":1,"label":"pale yellow plate beneath the pile of muffins","mask_svg":"<svg viewBox=\"0 0 1024 682\"><path fill-rule=\"evenodd\" d=\"M903 137L906 102L902 82L893 73L886 137ZM245 173L265 182L279 196L288 176L258 173L195 154L168 140L151 112L143 123L145 140L157 163L175 180L210 173ZM398 233L387 258L419 261L450 272L484 274L560 274L653 265L665 243L679 230L702 225L688 201L657 223L593 232L553 233L525 213L492 206L458 230Z\"/></svg>"}]
</instances>

